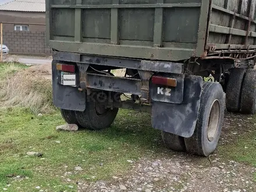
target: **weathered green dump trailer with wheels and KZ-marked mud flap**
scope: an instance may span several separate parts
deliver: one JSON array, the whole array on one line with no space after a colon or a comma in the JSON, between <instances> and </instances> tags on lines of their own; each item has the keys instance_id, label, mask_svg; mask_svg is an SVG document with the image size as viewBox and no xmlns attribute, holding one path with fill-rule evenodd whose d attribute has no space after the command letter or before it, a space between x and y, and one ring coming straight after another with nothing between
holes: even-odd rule
<instances>
[{"instance_id":1,"label":"weathered green dump trailer with wheels and KZ-marked mud flap","mask_svg":"<svg viewBox=\"0 0 256 192\"><path fill-rule=\"evenodd\" d=\"M47 0L54 105L89 130L111 126L119 108L151 113L168 148L207 157L225 108L256 111L255 8L256 0Z\"/></svg>"}]
</instances>

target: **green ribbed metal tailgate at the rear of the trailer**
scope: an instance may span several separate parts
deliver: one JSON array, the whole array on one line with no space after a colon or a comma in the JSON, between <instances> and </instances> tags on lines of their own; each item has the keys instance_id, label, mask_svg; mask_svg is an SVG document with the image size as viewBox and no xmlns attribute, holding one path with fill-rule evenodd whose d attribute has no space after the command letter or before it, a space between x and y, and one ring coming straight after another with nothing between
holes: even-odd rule
<instances>
[{"instance_id":1,"label":"green ribbed metal tailgate at the rear of the trailer","mask_svg":"<svg viewBox=\"0 0 256 192\"><path fill-rule=\"evenodd\" d=\"M63 52L180 61L202 56L209 0L46 1L47 39Z\"/></svg>"}]
</instances>

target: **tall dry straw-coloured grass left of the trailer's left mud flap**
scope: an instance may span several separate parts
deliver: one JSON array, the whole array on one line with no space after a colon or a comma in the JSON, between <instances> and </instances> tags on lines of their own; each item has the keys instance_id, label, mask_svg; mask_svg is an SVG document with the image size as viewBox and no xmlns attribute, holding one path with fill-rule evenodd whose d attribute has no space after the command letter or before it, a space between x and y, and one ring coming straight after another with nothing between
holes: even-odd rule
<instances>
[{"instance_id":1,"label":"tall dry straw-coloured grass left of the trailer's left mud flap","mask_svg":"<svg viewBox=\"0 0 256 192\"><path fill-rule=\"evenodd\" d=\"M48 113L52 105L51 65L32 66L16 74L16 65L6 65L1 80L0 108L22 106L34 113Z\"/></svg>"}]
</instances>

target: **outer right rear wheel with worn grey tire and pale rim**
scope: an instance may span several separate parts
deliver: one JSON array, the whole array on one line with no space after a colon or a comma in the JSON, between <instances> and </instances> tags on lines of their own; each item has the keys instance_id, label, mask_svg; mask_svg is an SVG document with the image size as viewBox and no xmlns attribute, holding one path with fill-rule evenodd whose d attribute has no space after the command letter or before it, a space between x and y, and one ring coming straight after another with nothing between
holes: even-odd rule
<instances>
[{"instance_id":1,"label":"outer right rear wheel with worn grey tire and pale rim","mask_svg":"<svg viewBox=\"0 0 256 192\"><path fill-rule=\"evenodd\" d=\"M218 144L224 119L224 93L219 83L204 83L192 137L184 138L187 152L207 157Z\"/></svg>"}]
</instances>

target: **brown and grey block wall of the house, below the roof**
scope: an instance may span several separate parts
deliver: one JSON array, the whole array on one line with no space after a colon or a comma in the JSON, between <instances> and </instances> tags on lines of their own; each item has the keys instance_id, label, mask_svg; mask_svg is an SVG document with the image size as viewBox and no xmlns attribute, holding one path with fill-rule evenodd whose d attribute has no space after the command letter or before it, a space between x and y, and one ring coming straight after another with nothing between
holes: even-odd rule
<instances>
[{"instance_id":1,"label":"brown and grey block wall of the house, below the roof","mask_svg":"<svg viewBox=\"0 0 256 192\"><path fill-rule=\"evenodd\" d=\"M0 11L3 44L10 54L50 55L45 40L45 13ZM28 25L29 31L15 31L15 25Z\"/></svg>"}]
</instances>

